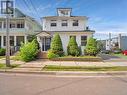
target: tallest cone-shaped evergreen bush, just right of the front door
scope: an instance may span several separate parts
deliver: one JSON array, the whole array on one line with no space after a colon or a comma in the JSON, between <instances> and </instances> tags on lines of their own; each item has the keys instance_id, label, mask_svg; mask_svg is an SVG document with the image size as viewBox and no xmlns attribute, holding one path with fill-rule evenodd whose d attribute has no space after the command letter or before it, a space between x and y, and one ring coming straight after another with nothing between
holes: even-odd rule
<instances>
[{"instance_id":1,"label":"tallest cone-shaped evergreen bush, just right of the front door","mask_svg":"<svg viewBox=\"0 0 127 95\"><path fill-rule=\"evenodd\" d=\"M64 54L63 46L62 46L62 42L61 42L61 38L60 38L59 34L54 35L54 37L51 41L51 48L50 49L54 54L63 56L63 54Z\"/></svg>"}]
</instances>

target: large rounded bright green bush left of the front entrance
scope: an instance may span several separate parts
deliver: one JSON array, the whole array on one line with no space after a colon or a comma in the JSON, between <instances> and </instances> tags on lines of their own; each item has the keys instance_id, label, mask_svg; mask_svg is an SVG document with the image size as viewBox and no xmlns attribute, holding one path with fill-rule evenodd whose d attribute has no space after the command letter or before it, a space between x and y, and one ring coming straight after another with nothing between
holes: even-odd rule
<instances>
[{"instance_id":1,"label":"large rounded bright green bush left of the front entrance","mask_svg":"<svg viewBox=\"0 0 127 95\"><path fill-rule=\"evenodd\" d=\"M20 57L21 60L28 62L32 61L37 57L38 54L38 45L35 40L22 44L20 48Z\"/></svg>"}]
</instances>

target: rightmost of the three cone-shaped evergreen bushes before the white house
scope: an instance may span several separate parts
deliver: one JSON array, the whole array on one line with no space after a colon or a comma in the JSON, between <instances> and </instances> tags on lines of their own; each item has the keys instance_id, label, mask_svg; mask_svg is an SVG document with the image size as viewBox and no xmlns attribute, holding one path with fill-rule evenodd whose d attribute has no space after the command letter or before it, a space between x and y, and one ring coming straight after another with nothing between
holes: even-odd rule
<instances>
[{"instance_id":1,"label":"rightmost of the three cone-shaped evergreen bushes before the white house","mask_svg":"<svg viewBox=\"0 0 127 95\"><path fill-rule=\"evenodd\" d=\"M87 55L90 56L96 56L96 54L98 53L98 49L97 49L97 41L96 39L90 37L87 41L87 45L85 48L85 53Z\"/></svg>"}]
</instances>

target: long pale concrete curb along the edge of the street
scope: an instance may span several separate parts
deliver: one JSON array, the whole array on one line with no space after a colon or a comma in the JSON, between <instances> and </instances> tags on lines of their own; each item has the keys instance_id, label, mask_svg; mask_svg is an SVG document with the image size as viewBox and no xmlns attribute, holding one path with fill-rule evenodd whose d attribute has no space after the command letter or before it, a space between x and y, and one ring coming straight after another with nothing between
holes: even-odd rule
<instances>
[{"instance_id":1,"label":"long pale concrete curb along the edge of the street","mask_svg":"<svg viewBox=\"0 0 127 95\"><path fill-rule=\"evenodd\" d=\"M17 74L41 74L54 76L125 76L127 71L107 71L107 72L70 72L70 71L15 71L0 70L0 73L17 73Z\"/></svg>"}]
</instances>

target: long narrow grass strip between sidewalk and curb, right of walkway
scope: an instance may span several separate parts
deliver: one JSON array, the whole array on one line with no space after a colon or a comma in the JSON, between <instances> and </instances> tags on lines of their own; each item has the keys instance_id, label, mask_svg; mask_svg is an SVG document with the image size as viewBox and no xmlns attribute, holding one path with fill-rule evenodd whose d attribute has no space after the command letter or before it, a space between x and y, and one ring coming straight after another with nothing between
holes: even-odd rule
<instances>
[{"instance_id":1,"label":"long narrow grass strip between sidewalk and curb, right of walkway","mask_svg":"<svg viewBox=\"0 0 127 95\"><path fill-rule=\"evenodd\" d=\"M57 66L46 65L43 71L127 71L127 66L88 67L88 66Z\"/></svg>"}]
</instances>

